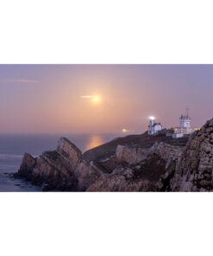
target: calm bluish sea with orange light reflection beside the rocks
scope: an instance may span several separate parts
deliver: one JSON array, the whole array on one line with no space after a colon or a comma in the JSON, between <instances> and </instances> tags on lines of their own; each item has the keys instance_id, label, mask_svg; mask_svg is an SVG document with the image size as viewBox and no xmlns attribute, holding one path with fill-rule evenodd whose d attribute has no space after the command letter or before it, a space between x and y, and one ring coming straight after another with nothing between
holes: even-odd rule
<instances>
[{"instance_id":1,"label":"calm bluish sea with orange light reflection beside the rocks","mask_svg":"<svg viewBox=\"0 0 213 256\"><path fill-rule=\"evenodd\" d=\"M109 142L119 134L30 134L8 135L0 134L0 192L36 192L40 187L32 185L23 179L14 179L11 174L16 173L22 163L22 156L28 152L34 157L46 150L55 150L60 137L68 138L83 152L100 144Z\"/></svg>"}]
</instances>

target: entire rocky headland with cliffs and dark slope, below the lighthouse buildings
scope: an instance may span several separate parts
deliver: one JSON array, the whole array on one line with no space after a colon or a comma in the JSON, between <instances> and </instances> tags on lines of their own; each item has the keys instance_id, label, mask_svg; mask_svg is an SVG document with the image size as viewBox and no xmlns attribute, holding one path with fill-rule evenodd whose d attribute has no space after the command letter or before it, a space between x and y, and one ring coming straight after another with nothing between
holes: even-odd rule
<instances>
[{"instance_id":1,"label":"entire rocky headland with cliffs and dark slope, below the lighthouse buildings","mask_svg":"<svg viewBox=\"0 0 213 256\"><path fill-rule=\"evenodd\" d=\"M213 119L190 138L145 132L84 154L60 138L40 157L25 153L16 176L50 191L212 191L212 172Z\"/></svg>"}]
</instances>

